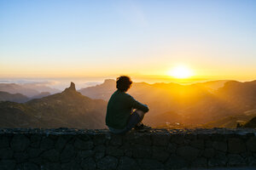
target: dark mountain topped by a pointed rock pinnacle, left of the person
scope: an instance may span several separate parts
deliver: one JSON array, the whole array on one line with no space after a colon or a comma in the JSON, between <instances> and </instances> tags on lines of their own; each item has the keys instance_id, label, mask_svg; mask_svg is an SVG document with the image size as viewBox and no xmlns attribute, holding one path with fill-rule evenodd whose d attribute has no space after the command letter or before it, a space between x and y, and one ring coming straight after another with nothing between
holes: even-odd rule
<instances>
[{"instance_id":1,"label":"dark mountain topped by a pointed rock pinnacle, left of the person","mask_svg":"<svg viewBox=\"0 0 256 170\"><path fill-rule=\"evenodd\" d=\"M72 82L59 94L24 104L0 102L0 127L103 128L107 102L76 91Z\"/></svg>"}]
</instances>

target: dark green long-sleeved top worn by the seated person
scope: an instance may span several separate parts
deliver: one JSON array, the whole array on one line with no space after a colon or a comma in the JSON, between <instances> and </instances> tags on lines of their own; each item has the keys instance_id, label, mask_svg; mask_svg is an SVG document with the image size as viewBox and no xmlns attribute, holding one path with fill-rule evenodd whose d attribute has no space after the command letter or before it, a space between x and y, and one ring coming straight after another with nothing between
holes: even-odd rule
<instances>
[{"instance_id":1,"label":"dark green long-sleeved top worn by the seated person","mask_svg":"<svg viewBox=\"0 0 256 170\"><path fill-rule=\"evenodd\" d=\"M130 94L116 90L108 101L106 125L116 129L125 128L133 109L148 112L148 106L143 105Z\"/></svg>"}]
</instances>

